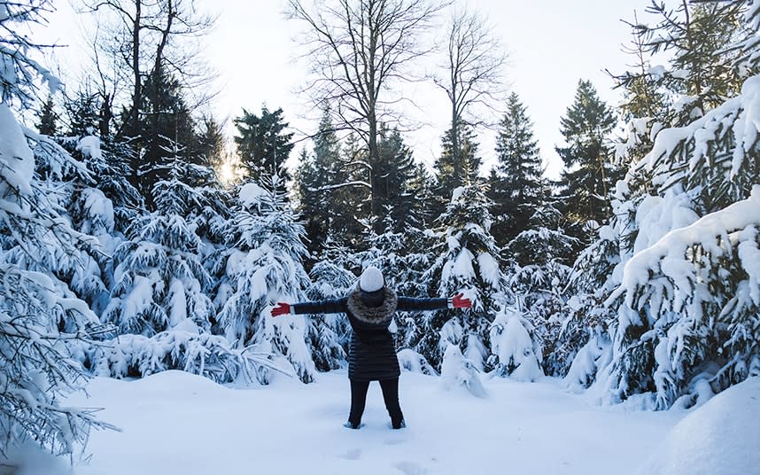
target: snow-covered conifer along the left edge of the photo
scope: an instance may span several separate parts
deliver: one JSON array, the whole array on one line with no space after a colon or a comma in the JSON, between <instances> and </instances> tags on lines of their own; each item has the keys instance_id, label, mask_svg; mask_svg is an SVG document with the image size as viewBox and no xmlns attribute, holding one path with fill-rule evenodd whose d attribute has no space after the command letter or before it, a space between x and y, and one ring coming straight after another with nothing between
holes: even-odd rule
<instances>
[{"instance_id":1,"label":"snow-covered conifer along the left edge of the photo","mask_svg":"<svg viewBox=\"0 0 760 475\"><path fill-rule=\"evenodd\" d=\"M35 97L35 76L51 92L58 80L28 56L40 46L19 33L41 21L45 2L0 4L0 453L12 444L35 440L57 454L73 454L92 427L109 426L93 412L62 406L61 396L81 388L85 373L69 344L76 346L97 317L65 282L53 276L58 260L76 261L82 235L58 214L35 177L29 142L43 137L19 125L12 107L27 108ZM37 148L37 147L35 147ZM38 148L39 150L39 148ZM60 163L75 160L66 154ZM35 269L29 269L34 263ZM50 266L50 267L48 267ZM60 330L60 323L68 323ZM91 327L90 327L91 328ZM71 330L71 332L68 332ZM69 344L67 344L69 343ZM110 427L110 426L109 426Z\"/></svg>"}]
</instances>

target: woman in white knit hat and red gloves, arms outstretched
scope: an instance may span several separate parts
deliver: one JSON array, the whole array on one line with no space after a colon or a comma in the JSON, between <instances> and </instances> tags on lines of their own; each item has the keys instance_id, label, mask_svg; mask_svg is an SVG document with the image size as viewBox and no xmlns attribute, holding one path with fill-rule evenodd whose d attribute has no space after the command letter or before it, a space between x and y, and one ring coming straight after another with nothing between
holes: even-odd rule
<instances>
[{"instance_id":1,"label":"woman in white knit hat and red gloves, arms outstretched","mask_svg":"<svg viewBox=\"0 0 760 475\"><path fill-rule=\"evenodd\" d=\"M406 427L399 405L399 359L388 325L398 310L420 311L441 308L469 308L469 299L461 293L451 299L411 299L399 297L385 286L383 274L368 267L361 274L358 287L336 300L321 300L288 304L277 303L272 316L284 314L345 313L353 330L348 354L348 378L351 381L351 410L345 427L361 427L361 415L367 400L370 381L379 381L385 408L391 416L393 429Z\"/></svg>"}]
</instances>

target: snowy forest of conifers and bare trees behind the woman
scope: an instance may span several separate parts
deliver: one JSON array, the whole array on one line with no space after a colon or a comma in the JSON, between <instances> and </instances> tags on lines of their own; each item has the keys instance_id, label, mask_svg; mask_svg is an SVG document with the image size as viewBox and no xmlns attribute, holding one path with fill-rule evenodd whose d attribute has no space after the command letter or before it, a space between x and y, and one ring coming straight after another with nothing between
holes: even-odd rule
<instances>
[{"instance_id":1,"label":"snowy forest of conifers and bare trees behind the woman","mask_svg":"<svg viewBox=\"0 0 760 475\"><path fill-rule=\"evenodd\" d=\"M289 0L322 114L297 142L295 111L241 106L233 136L205 113L190 45L213 17L193 0L81 0L92 64L65 87L28 33L56 2L0 1L0 452L70 453L109 427L61 402L94 377L344 367L344 315L269 312L345 295L368 266L401 295L472 300L393 327L403 368L473 393L482 374L554 377L659 410L760 375L760 4L638 3L635 66L610 73L623 103L581 79L564 144L539 152L506 50L458 3ZM432 54L451 120L430 166L394 85Z\"/></svg>"}]
</instances>

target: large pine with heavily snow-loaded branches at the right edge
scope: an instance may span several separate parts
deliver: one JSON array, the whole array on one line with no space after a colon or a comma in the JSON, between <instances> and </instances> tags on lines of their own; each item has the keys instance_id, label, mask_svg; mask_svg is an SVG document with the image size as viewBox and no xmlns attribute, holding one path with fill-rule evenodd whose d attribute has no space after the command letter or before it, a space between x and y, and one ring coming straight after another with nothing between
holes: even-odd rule
<instances>
[{"instance_id":1,"label":"large pine with heavily snow-loaded branches at the right edge","mask_svg":"<svg viewBox=\"0 0 760 475\"><path fill-rule=\"evenodd\" d=\"M707 97L678 98L702 105L676 114L688 123L660 130L617 187L622 217L602 229L607 241L624 243L604 284L617 319L611 362L596 375L613 401L651 392L655 408L689 406L760 369L760 78L751 75L760 62L760 11L744 1L707 4L721 21L743 15L744 35L724 51L745 80L710 110L702 110ZM683 66L674 65L680 77L710 70Z\"/></svg>"}]
</instances>

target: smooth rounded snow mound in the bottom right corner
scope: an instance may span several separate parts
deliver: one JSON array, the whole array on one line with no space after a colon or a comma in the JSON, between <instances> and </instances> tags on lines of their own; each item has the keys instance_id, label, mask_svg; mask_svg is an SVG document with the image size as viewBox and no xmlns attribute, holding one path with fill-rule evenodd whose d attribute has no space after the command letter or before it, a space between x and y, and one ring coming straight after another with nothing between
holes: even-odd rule
<instances>
[{"instance_id":1,"label":"smooth rounded snow mound in the bottom right corner","mask_svg":"<svg viewBox=\"0 0 760 475\"><path fill-rule=\"evenodd\" d=\"M684 417L637 474L729 475L760 467L760 377L748 378Z\"/></svg>"}]
</instances>

